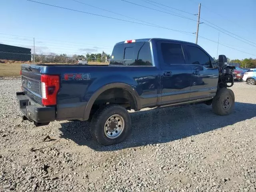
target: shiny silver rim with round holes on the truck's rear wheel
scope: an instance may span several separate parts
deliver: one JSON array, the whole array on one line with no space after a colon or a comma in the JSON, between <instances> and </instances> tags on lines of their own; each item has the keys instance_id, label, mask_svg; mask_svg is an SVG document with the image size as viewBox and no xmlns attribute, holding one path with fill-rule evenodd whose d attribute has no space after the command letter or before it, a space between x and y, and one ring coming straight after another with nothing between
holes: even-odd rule
<instances>
[{"instance_id":1,"label":"shiny silver rim with round holes on the truck's rear wheel","mask_svg":"<svg viewBox=\"0 0 256 192\"><path fill-rule=\"evenodd\" d=\"M112 115L106 120L104 133L110 139L118 138L124 131L124 118L120 115Z\"/></svg>"}]
</instances>

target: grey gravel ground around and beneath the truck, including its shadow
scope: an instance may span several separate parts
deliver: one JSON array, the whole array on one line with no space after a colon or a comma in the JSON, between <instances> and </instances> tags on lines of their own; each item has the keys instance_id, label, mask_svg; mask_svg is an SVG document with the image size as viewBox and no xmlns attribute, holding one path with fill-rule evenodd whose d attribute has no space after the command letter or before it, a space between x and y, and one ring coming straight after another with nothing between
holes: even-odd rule
<instances>
[{"instance_id":1,"label":"grey gravel ground around and beneath the truck, including its shadow","mask_svg":"<svg viewBox=\"0 0 256 192\"><path fill-rule=\"evenodd\" d=\"M256 191L256 86L235 83L229 116L204 104L131 112L131 136L108 147L87 122L22 122L19 90L0 80L0 191Z\"/></svg>"}]
</instances>

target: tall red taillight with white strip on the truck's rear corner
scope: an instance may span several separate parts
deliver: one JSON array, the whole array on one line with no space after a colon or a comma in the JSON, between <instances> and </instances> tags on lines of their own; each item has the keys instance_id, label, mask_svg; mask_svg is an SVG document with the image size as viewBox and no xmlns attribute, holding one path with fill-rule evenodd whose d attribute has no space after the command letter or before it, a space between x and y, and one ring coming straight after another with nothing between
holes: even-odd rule
<instances>
[{"instance_id":1,"label":"tall red taillight with white strip on the truck's rear corner","mask_svg":"<svg viewBox=\"0 0 256 192\"><path fill-rule=\"evenodd\" d=\"M58 75L41 75L42 104L56 105L59 88L60 77Z\"/></svg>"}]
</instances>

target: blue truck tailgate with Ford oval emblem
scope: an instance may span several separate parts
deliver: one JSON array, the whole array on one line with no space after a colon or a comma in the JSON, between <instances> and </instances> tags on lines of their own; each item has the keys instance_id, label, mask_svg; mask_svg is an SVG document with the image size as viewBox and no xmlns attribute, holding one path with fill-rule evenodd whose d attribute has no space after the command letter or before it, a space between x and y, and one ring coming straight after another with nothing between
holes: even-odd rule
<instances>
[{"instance_id":1,"label":"blue truck tailgate with Ford oval emblem","mask_svg":"<svg viewBox=\"0 0 256 192\"><path fill-rule=\"evenodd\" d=\"M22 90L34 102L42 105L41 66L23 64L21 68Z\"/></svg>"}]
</instances>

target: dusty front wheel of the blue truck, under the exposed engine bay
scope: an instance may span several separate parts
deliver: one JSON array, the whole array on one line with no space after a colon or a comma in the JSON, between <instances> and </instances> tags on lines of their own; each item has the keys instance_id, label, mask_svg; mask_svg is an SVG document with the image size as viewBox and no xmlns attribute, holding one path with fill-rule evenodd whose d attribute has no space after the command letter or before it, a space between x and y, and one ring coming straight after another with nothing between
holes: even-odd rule
<instances>
[{"instance_id":1,"label":"dusty front wheel of the blue truck, under the exposed engine bay","mask_svg":"<svg viewBox=\"0 0 256 192\"><path fill-rule=\"evenodd\" d=\"M218 90L212 100L212 110L217 115L229 115L232 113L234 105L234 92L227 88Z\"/></svg>"}]
</instances>

